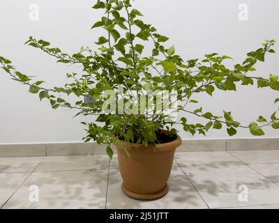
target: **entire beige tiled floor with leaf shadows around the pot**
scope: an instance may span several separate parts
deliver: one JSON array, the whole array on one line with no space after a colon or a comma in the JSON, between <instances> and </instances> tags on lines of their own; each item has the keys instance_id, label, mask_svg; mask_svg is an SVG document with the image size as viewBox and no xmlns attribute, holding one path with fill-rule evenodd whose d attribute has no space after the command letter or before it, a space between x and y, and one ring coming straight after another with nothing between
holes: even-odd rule
<instances>
[{"instance_id":1,"label":"entire beige tiled floor with leaf shadows around the pot","mask_svg":"<svg viewBox=\"0 0 279 223\"><path fill-rule=\"evenodd\" d=\"M176 153L169 193L121 191L116 157L0 158L1 208L279 208L279 151Z\"/></svg>"}]
</instances>

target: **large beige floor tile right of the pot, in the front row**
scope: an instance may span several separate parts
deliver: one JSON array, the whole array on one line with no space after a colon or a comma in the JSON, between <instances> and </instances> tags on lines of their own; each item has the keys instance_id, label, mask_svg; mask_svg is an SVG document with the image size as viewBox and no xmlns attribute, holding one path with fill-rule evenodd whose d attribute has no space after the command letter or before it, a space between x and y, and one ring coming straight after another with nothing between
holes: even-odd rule
<instances>
[{"instance_id":1,"label":"large beige floor tile right of the pot, in the front row","mask_svg":"<svg viewBox=\"0 0 279 223\"><path fill-rule=\"evenodd\" d=\"M182 169L210 208L279 203L279 187L246 165ZM246 194L248 201L245 200Z\"/></svg>"}]
</instances>

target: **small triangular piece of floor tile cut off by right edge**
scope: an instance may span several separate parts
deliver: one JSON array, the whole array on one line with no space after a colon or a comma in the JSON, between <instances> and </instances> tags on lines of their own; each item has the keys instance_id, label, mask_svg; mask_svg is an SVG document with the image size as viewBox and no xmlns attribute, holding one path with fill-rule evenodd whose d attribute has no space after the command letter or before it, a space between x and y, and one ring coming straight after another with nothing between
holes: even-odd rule
<instances>
[{"instance_id":1,"label":"small triangular piece of floor tile cut off by right edge","mask_svg":"<svg viewBox=\"0 0 279 223\"><path fill-rule=\"evenodd\" d=\"M255 169L274 183L279 183L279 163L274 164L250 164L249 167Z\"/></svg>"}]
</instances>

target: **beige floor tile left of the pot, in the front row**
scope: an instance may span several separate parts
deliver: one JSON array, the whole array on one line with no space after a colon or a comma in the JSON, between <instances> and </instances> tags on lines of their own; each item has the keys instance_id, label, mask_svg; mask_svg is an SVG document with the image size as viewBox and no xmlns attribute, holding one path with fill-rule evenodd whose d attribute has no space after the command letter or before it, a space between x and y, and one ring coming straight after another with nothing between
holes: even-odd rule
<instances>
[{"instance_id":1,"label":"beige floor tile left of the pot, in the front row","mask_svg":"<svg viewBox=\"0 0 279 223\"><path fill-rule=\"evenodd\" d=\"M3 208L105 208L108 170L37 172ZM39 200L33 199L38 186Z\"/></svg>"}]
</instances>

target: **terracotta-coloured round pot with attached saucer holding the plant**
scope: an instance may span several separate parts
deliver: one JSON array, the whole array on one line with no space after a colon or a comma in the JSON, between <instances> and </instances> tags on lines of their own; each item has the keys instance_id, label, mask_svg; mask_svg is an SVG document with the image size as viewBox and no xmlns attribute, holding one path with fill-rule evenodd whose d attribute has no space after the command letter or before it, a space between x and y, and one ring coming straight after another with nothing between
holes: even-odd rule
<instances>
[{"instance_id":1,"label":"terracotta-coloured round pot with attached saucer holding the plant","mask_svg":"<svg viewBox=\"0 0 279 223\"><path fill-rule=\"evenodd\" d=\"M174 151L181 145L181 137L165 144L144 146L126 144L128 157L123 147L117 146L119 168L123 178L122 190L135 199L157 199L168 192L167 180L172 171Z\"/></svg>"}]
</instances>

